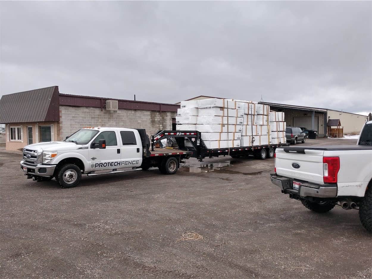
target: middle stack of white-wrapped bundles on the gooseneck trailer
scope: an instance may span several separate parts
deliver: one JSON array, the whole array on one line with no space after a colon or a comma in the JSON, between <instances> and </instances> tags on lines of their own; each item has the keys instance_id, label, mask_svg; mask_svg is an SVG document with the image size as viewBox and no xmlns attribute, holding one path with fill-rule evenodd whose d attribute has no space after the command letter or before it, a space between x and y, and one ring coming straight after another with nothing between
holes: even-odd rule
<instances>
[{"instance_id":1,"label":"middle stack of white-wrapped bundles on the gooseneck trailer","mask_svg":"<svg viewBox=\"0 0 372 279\"><path fill-rule=\"evenodd\" d=\"M256 102L246 102L242 105L244 106L244 127L241 146L270 144L270 107Z\"/></svg>"}]
</instances>

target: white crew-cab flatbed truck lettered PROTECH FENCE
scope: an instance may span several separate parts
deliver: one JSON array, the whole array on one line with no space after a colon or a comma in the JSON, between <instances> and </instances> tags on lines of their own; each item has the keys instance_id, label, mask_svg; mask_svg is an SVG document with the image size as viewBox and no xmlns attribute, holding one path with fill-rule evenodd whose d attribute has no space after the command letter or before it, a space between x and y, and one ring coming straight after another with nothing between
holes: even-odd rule
<instances>
[{"instance_id":1,"label":"white crew-cab flatbed truck lettered PROTECH FENCE","mask_svg":"<svg viewBox=\"0 0 372 279\"><path fill-rule=\"evenodd\" d=\"M94 176L158 167L174 174L192 152L160 148L149 150L145 129L85 127L64 141L41 142L23 148L20 168L28 179L51 180L62 188L75 187L81 174Z\"/></svg>"}]
</instances>

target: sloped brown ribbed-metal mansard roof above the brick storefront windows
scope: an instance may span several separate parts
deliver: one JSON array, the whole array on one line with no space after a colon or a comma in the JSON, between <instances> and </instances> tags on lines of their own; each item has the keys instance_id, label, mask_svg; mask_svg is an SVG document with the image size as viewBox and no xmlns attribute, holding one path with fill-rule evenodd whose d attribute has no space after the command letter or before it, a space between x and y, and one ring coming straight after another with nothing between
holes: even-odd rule
<instances>
[{"instance_id":1,"label":"sloped brown ribbed-metal mansard roof above the brick storefront windows","mask_svg":"<svg viewBox=\"0 0 372 279\"><path fill-rule=\"evenodd\" d=\"M0 123L59 121L58 86L3 95Z\"/></svg>"}]
</instances>

